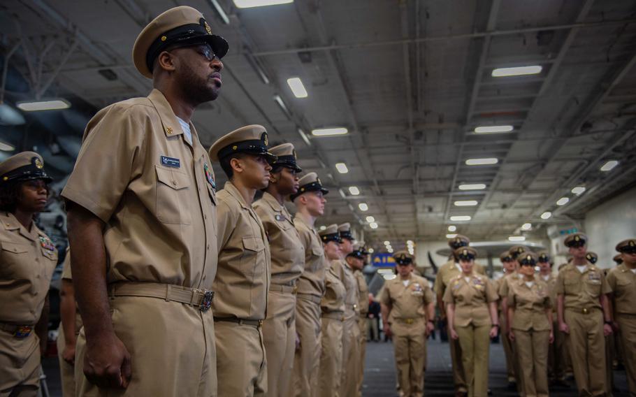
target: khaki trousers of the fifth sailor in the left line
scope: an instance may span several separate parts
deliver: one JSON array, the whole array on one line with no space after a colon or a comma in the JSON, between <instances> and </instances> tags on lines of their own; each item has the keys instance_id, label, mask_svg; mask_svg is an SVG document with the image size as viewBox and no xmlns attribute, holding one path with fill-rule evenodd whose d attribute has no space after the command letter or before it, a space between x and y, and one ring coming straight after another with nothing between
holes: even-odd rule
<instances>
[{"instance_id":1,"label":"khaki trousers of the fifth sailor in the left line","mask_svg":"<svg viewBox=\"0 0 636 397\"><path fill-rule=\"evenodd\" d=\"M340 318L335 318L340 316ZM342 379L342 315L322 317L319 397L344 397L340 394Z\"/></svg>"}]
</instances>

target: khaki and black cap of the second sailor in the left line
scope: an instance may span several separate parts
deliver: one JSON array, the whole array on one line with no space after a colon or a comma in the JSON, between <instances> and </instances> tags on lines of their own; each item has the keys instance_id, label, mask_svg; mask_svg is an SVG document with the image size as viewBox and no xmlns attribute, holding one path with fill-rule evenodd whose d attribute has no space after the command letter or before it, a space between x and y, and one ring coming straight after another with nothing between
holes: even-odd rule
<instances>
[{"instance_id":1,"label":"khaki and black cap of the second sailor in the left line","mask_svg":"<svg viewBox=\"0 0 636 397\"><path fill-rule=\"evenodd\" d=\"M236 153L255 154L263 156L271 164L276 156L267 150L267 131L265 127L253 124L235 129L217 139L210 147L210 159L221 161Z\"/></svg>"}]
</instances>

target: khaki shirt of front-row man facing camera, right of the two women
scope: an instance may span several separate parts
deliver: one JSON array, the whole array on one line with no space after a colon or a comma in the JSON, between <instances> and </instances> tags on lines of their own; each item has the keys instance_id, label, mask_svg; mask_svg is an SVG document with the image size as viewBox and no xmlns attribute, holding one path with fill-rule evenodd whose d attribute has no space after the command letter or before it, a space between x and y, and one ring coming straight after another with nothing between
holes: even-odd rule
<instances>
[{"instance_id":1,"label":"khaki shirt of front-row man facing camera, right of the two women","mask_svg":"<svg viewBox=\"0 0 636 397\"><path fill-rule=\"evenodd\" d=\"M602 270L587 262L584 272L579 272L572 262L565 266L556 277L556 294L564 296L565 309L601 309L601 294L609 294L609 288Z\"/></svg>"}]
</instances>

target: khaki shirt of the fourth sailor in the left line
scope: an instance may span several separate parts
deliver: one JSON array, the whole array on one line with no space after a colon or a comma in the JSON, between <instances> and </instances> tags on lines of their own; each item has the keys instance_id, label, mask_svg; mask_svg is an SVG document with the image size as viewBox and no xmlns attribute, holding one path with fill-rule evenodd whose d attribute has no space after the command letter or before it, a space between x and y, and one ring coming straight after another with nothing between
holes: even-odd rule
<instances>
[{"instance_id":1,"label":"khaki shirt of the fourth sailor in the left line","mask_svg":"<svg viewBox=\"0 0 636 397\"><path fill-rule=\"evenodd\" d=\"M301 236L305 248L305 269L298 279L298 294L322 297L324 295L324 274L326 259L322 248L322 240L312 226L305 223L303 217L296 214L294 225Z\"/></svg>"}]
</instances>

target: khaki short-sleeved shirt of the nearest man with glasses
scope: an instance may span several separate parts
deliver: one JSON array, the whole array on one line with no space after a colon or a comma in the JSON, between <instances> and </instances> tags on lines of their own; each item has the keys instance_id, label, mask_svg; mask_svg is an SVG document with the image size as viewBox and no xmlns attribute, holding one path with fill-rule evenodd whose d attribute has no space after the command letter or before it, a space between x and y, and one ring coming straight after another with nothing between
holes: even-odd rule
<instances>
[{"instance_id":1,"label":"khaki short-sleeved shirt of the nearest man with glasses","mask_svg":"<svg viewBox=\"0 0 636 397\"><path fill-rule=\"evenodd\" d=\"M87 125L62 196L106 223L109 283L211 289L218 254L214 174L190 129L192 145L157 89L103 108Z\"/></svg>"}]
</instances>

